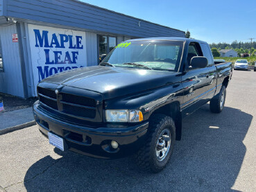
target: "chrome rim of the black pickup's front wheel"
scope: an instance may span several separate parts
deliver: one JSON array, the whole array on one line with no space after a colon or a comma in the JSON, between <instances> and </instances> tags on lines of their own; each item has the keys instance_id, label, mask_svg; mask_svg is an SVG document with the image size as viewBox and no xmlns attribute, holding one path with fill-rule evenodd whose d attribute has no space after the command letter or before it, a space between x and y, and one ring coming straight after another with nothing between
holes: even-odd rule
<instances>
[{"instance_id":1,"label":"chrome rim of the black pickup's front wheel","mask_svg":"<svg viewBox=\"0 0 256 192\"><path fill-rule=\"evenodd\" d=\"M169 149L171 146L171 132L168 129L162 130L161 134L159 135L155 147L155 155L159 162L167 157Z\"/></svg>"}]
</instances>

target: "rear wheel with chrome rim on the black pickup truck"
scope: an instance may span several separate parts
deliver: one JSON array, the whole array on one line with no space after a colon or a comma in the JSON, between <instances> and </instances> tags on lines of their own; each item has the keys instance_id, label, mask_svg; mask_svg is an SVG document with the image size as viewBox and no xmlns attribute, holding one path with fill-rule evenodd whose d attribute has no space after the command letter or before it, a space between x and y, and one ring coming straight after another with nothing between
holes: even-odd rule
<instances>
[{"instance_id":1,"label":"rear wheel with chrome rim on the black pickup truck","mask_svg":"<svg viewBox=\"0 0 256 192\"><path fill-rule=\"evenodd\" d=\"M212 100L210 101L211 112L213 113L222 112L225 105L225 95L226 95L226 91L225 91L225 86L223 85L221 87L221 91L219 92L219 94L214 96L214 98L212 98Z\"/></svg>"}]
</instances>

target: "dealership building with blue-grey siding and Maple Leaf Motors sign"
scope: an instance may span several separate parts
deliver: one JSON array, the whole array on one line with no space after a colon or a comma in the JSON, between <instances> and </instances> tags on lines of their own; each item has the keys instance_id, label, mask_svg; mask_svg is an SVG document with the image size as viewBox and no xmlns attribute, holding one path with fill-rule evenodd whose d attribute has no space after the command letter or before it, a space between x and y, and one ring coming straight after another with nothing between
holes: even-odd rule
<instances>
[{"instance_id":1,"label":"dealership building with blue-grey siding and Maple Leaf Motors sign","mask_svg":"<svg viewBox=\"0 0 256 192\"><path fill-rule=\"evenodd\" d=\"M77 0L0 0L0 92L37 96L43 78L97 65L117 44L139 37L185 32Z\"/></svg>"}]
</instances>

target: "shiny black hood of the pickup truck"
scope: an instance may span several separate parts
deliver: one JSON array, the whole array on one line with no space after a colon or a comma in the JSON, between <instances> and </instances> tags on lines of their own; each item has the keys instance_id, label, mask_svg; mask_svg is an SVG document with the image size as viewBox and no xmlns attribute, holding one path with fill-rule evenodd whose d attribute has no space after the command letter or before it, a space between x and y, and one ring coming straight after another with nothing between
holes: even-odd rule
<instances>
[{"instance_id":1,"label":"shiny black hood of the pickup truck","mask_svg":"<svg viewBox=\"0 0 256 192\"><path fill-rule=\"evenodd\" d=\"M96 91L108 99L172 84L175 76L173 71L95 66L57 73L41 82Z\"/></svg>"}]
</instances>

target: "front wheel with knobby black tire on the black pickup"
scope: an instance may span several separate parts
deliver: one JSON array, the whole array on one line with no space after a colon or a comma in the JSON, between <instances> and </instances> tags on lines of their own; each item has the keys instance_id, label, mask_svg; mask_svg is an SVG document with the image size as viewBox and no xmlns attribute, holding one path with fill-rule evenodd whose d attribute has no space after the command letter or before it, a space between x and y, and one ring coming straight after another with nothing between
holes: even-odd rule
<instances>
[{"instance_id":1,"label":"front wheel with knobby black tire on the black pickup","mask_svg":"<svg viewBox=\"0 0 256 192\"><path fill-rule=\"evenodd\" d=\"M176 140L173 119L164 114L151 117L146 144L137 152L137 164L144 171L158 173L167 166Z\"/></svg>"}]
</instances>

